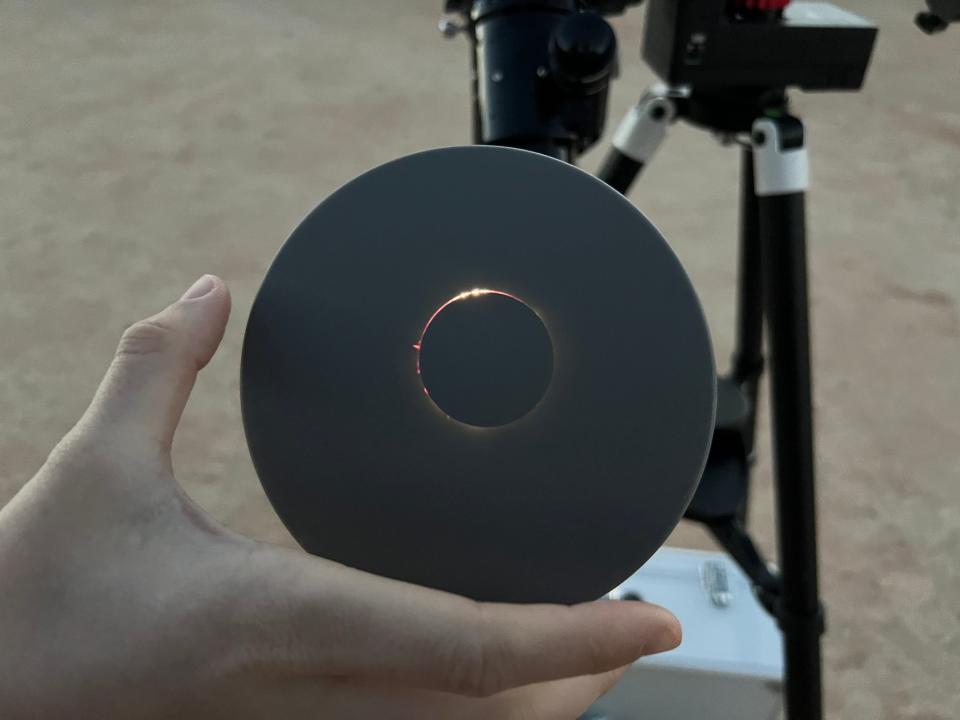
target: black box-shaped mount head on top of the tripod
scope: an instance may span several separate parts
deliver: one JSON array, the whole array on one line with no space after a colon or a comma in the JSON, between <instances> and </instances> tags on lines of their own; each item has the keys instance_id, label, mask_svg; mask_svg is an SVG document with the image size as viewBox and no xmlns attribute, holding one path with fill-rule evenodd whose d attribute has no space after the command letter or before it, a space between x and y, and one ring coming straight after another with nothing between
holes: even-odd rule
<instances>
[{"instance_id":1,"label":"black box-shaped mount head on top of the tripod","mask_svg":"<svg viewBox=\"0 0 960 720\"><path fill-rule=\"evenodd\" d=\"M695 90L856 90L877 28L823 2L648 0L643 58L665 82Z\"/></svg>"}]
</instances>

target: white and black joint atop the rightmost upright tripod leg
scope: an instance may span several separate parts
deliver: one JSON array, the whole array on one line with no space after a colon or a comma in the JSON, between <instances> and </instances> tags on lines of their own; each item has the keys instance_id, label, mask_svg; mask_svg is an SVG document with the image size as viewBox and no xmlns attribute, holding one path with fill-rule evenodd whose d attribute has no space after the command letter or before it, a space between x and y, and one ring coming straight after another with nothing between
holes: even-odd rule
<instances>
[{"instance_id":1,"label":"white and black joint atop the rightmost upright tripod leg","mask_svg":"<svg viewBox=\"0 0 960 720\"><path fill-rule=\"evenodd\" d=\"M803 123L791 115L764 117L750 136L759 197L806 192L810 186Z\"/></svg>"}]
</instances>

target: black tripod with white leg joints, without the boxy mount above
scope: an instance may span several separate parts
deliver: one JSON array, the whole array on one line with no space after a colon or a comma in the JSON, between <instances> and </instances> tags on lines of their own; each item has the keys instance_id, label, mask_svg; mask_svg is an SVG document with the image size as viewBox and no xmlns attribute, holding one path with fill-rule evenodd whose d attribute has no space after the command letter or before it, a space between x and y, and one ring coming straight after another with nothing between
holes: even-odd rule
<instances>
[{"instance_id":1,"label":"black tripod with white leg joints, without the boxy mount above","mask_svg":"<svg viewBox=\"0 0 960 720\"><path fill-rule=\"evenodd\" d=\"M785 651L790 718L821 717L813 412L807 304L803 124L780 91L694 97L659 85L631 110L599 177L620 192L653 157L671 121L738 137L741 150L737 332L732 367L718 385L717 425L707 468L687 510L753 581L777 619ZM745 530L754 457L763 330L770 354L774 478L780 570L771 571Z\"/></svg>"}]
</instances>

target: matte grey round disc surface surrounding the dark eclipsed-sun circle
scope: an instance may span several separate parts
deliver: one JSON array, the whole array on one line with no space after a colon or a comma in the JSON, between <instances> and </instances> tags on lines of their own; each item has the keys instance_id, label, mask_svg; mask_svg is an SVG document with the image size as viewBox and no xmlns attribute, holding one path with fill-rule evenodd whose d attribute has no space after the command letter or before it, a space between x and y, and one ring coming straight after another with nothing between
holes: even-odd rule
<instances>
[{"instance_id":1,"label":"matte grey round disc surface surrounding the dark eclipsed-sun circle","mask_svg":"<svg viewBox=\"0 0 960 720\"><path fill-rule=\"evenodd\" d=\"M472 288L550 329L541 402L502 427L423 393L416 342ZM664 541L711 437L706 322L629 202L517 150L376 168L294 232L251 311L244 424L257 472L311 552L477 599L598 597Z\"/></svg>"}]
</instances>

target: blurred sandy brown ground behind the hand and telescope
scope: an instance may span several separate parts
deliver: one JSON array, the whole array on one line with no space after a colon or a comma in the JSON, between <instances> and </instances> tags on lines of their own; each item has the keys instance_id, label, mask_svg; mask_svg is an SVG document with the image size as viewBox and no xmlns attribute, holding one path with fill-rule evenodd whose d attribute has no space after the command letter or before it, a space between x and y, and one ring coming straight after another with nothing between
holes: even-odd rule
<instances>
[{"instance_id":1,"label":"blurred sandy brown ground behind the hand and telescope","mask_svg":"<svg viewBox=\"0 0 960 720\"><path fill-rule=\"evenodd\" d=\"M176 444L237 530L290 542L240 424L244 320L300 218L360 171L469 141L467 47L440 0L8 2L0 7L0 503L87 403L122 329L199 274L235 311ZM960 713L960 27L881 25L867 88L798 96L810 244L831 717ZM652 81L617 22L613 126ZM609 134L609 131L608 131ZM594 168L599 153L585 158ZM729 355L736 153L677 127L632 198ZM752 524L773 551L766 433ZM709 547L695 527L675 544Z\"/></svg>"}]
</instances>

